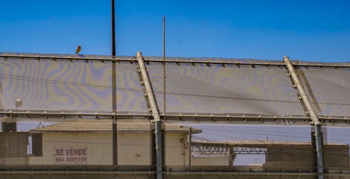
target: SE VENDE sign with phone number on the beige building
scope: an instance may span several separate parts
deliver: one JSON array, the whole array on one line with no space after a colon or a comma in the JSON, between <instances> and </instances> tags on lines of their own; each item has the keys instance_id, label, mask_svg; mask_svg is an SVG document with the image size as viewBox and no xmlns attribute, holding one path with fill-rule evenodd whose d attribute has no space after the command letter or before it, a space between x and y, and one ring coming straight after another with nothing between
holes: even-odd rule
<instances>
[{"instance_id":1,"label":"SE VENDE sign with phone number on the beige building","mask_svg":"<svg viewBox=\"0 0 350 179\"><path fill-rule=\"evenodd\" d=\"M87 164L87 148L55 148L55 164Z\"/></svg>"}]
</instances>

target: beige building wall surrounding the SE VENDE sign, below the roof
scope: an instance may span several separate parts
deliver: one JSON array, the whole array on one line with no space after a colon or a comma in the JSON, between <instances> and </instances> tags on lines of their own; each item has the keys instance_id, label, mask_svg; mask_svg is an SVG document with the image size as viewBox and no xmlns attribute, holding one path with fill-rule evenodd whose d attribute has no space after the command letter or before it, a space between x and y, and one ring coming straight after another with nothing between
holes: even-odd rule
<instances>
[{"instance_id":1,"label":"beige building wall surrounding the SE VENDE sign, below the roof","mask_svg":"<svg viewBox=\"0 0 350 179\"><path fill-rule=\"evenodd\" d=\"M118 133L118 165L151 165L151 137L150 132ZM165 165L188 166L188 146L186 133L165 133ZM30 165L55 165L55 148L87 148L86 165L113 163L110 133L60 132L43 133L43 156L30 156Z\"/></svg>"}]
</instances>

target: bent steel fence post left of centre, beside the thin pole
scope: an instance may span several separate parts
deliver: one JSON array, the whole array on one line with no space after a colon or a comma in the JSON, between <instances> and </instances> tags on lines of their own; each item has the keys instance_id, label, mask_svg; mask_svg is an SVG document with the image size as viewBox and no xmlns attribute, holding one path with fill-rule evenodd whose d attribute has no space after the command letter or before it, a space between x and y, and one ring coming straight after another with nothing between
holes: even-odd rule
<instances>
[{"instance_id":1,"label":"bent steel fence post left of centre, beside the thin pole","mask_svg":"<svg viewBox=\"0 0 350 179\"><path fill-rule=\"evenodd\" d=\"M136 53L136 59L139 63L139 68L141 72L141 77L143 79L143 85L145 85L146 95L148 97L148 101L150 102L150 108L152 111L152 116L155 122L155 141L156 141L156 178L163 178L163 154L162 154L162 124L161 124L161 116L159 115L159 109L156 105L156 98L154 97L152 85L150 83L150 78L148 77L147 69L145 68L145 62L143 61L143 57L141 52Z\"/></svg>"}]
</instances>

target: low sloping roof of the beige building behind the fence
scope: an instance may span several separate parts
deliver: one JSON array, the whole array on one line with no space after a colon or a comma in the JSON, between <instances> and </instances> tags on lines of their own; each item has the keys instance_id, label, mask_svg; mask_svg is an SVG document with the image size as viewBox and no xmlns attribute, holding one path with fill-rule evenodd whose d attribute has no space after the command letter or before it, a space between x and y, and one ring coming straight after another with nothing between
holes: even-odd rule
<instances>
[{"instance_id":1,"label":"low sloping roof of the beige building behind the fence","mask_svg":"<svg viewBox=\"0 0 350 179\"><path fill-rule=\"evenodd\" d=\"M163 124L162 129L167 132L189 133L189 127L178 124ZM129 122L117 122L117 131L123 132L143 132L154 130L154 124L150 122L141 122L140 120L130 120ZM31 132L109 132L112 131L112 120L70 120L37 128ZM202 130L193 128L191 133L202 133Z\"/></svg>"}]
</instances>

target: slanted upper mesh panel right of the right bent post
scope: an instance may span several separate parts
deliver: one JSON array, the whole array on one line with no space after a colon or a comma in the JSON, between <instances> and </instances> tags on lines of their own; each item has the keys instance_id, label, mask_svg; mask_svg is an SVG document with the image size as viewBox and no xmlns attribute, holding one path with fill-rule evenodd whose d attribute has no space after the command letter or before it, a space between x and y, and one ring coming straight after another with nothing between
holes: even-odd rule
<instances>
[{"instance_id":1,"label":"slanted upper mesh panel right of the right bent post","mask_svg":"<svg viewBox=\"0 0 350 179\"><path fill-rule=\"evenodd\" d=\"M303 68L299 77L318 115L350 115L349 69Z\"/></svg>"}]
</instances>

